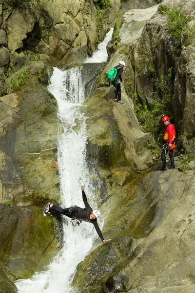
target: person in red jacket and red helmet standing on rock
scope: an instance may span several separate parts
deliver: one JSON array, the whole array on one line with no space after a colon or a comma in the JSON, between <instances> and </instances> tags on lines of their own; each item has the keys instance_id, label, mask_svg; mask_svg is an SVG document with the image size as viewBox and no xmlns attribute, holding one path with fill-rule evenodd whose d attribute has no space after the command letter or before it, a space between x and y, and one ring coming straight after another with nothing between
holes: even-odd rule
<instances>
[{"instance_id":1,"label":"person in red jacket and red helmet standing on rock","mask_svg":"<svg viewBox=\"0 0 195 293\"><path fill-rule=\"evenodd\" d=\"M167 126L163 141L165 142L163 145L163 149L161 152L161 158L162 158L162 168L159 168L161 171L165 171L166 168L166 153L169 154L169 158L171 160L171 167L170 169L175 169L175 162L174 162L174 148L176 147L176 129L173 124L170 123L168 116L163 116L162 121L164 122L164 125Z\"/></svg>"}]
</instances>

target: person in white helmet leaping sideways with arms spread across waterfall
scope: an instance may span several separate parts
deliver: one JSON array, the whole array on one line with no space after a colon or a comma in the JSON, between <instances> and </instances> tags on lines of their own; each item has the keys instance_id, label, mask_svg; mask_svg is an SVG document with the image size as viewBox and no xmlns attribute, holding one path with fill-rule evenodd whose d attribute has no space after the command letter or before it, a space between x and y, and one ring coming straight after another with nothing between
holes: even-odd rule
<instances>
[{"instance_id":1,"label":"person in white helmet leaping sideways with arms spread across waterfall","mask_svg":"<svg viewBox=\"0 0 195 293\"><path fill-rule=\"evenodd\" d=\"M85 205L85 209L82 209L77 206L63 209L59 206L55 206L52 203L49 203L46 206L46 208L44 209L43 214L44 214L44 216L46 216L51 211L55 211L55 212L58 212L62 215L65 215L71 219L76 218L77 220L80 220L80 221L92 223L94 225L99 237L101 238L101 241L108 242L111 239L104 240L103 235L101 233L101 230L99 229L99 226L98 226L97 218L100 215L100 212L98 211L98 209L93 210L90 207L90 205L87 202L87 197L86 197L84 188L85 188L84 186L81 186L82 199L83 199L83 202Z\"/></svg>"}]
</instances>

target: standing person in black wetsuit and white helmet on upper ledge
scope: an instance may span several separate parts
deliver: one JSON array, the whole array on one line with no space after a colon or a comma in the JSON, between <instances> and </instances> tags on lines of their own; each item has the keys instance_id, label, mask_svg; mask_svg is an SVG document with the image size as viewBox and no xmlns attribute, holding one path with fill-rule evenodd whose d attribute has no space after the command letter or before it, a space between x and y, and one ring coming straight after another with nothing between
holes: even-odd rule
<instances>
[{"instance_id":1,"label":"standing person in black wetsuit and white helmet on upper ledge","mask_svg":"<svg viewBox=\"0 0 195 293\"><path fill-rule=\"evenodd\" d=\"M124 103L121 101L121 88L120 88L120 82L124 83L124 81L122 80L122 72L123 72L124 66L125 66L124 61L120 61L119 64L114 67L114 68L117 68L117 78L116 78L116 81L112 82L112 84L116 88L114 102L117 102L118 104L121 104L121 105L124 105Z\"/></svg>"}]
</instances>

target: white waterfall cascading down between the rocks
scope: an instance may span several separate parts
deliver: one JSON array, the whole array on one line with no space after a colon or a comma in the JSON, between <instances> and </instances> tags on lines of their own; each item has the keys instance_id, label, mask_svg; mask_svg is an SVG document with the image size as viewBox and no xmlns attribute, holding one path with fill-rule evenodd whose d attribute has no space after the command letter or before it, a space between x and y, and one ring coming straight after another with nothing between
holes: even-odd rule
<instances>
[{"instance_id":1,"label":"white waterfall cascading down between the rocks","mask_svg":"<svg viewBox=\"0 0 195 293\"><path fill-rule=\"evenodd\" d=\"M111 36L112 33L109 35L109 40ZM104 51L109 40L104 42ZM107 55L101 62L105 61L107 61ZM100 62L98 55L93 62ZM54 68L48 90L58 102L58 116L61 120L58 163L62 207L78 205L84 208L80 185L86 185L88 199L90 195L93 196L93 191L90 187L85 163L86 118L79 111L81 103L84 101L80 69L72 68L68 71L61 71ZM93 206L94 204L92 204ZM62 250L46 271L36 272L31 279L16 281L19 293L74 292L71 288L71 282L77 265L89 253L98 235L94 226L89 223L82 222L81 225L73 227L69 218L63 216L63 219L64 246ZM101 224L103 223L101 222ZM100 228L102 228L101 225Z\"/></svg>"}]
</instances>

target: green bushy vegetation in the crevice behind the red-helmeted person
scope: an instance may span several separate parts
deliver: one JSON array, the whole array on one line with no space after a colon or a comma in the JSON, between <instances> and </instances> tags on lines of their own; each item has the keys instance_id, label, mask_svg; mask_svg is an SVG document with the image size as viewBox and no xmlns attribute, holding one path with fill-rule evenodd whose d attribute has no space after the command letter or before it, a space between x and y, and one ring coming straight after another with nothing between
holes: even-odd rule
<instances>
[{"instance_id":1,"label":"green bushy vegetation in the crevice behind the red-helmeted person","mask_svg":"<svg viewBox=\"0 0 195 293\"><path fill-rule=\"evenodd\" d=\"M147 105L142 105L139 102L137 93L134 93L137 118L144 130L152 133L156 139L159 137L160 132L159 117L162 113L172 112L172 70L172 67L169 68L167 77L160 76L160 79L155 79L156 90L153 92L154 102L151 109L148 109Z\"/></svg>"}]
</instances>

